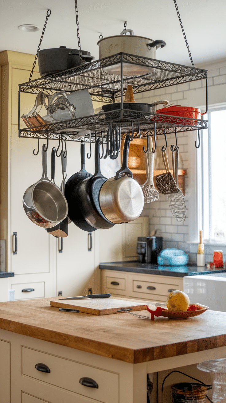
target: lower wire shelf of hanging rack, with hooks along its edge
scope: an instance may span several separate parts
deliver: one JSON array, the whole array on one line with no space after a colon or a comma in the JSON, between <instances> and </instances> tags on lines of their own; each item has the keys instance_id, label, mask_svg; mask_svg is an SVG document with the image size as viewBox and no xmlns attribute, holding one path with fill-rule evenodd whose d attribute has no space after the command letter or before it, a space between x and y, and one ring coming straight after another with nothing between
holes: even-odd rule
<instances>
[{"instance_id":1,"label":"lower wire shelf of hanging rack, with hooks along its edge","mask_svg":"<svg viewBox=\"0 0 226 403\"><path fill-rule=\"evenodd\" d=\"M80 130L91 131L91 139L95 141L93 137L95 135L100 136L101 131L104 135L104 142L106 142L106 133L108 126L112 123L115 127L120 125L121 133L131 133L131 127L133 125L134 137L139 137L138 122L140 125L141 137L146 137L149 134L153 134L154 124L156 123L156 134L161 135L165 130L165 133L174 133L182 131L193 131L197 129L207 129L207 120L202 119L190 119L181 116L170 116L166 114L137 112L128 109L118 109L110 112L101 112L91 116L85 116L77 119L65 120L57 123L49 123L48 125L42 125L33 128L19 130L19 137L31 137L31 138L47 138L59 139L60 135L62 139L72 141L89 141L89 134L85 137L79 137ZM85 140L84 140L85 139Z\"/></svg>"}]
</instances>

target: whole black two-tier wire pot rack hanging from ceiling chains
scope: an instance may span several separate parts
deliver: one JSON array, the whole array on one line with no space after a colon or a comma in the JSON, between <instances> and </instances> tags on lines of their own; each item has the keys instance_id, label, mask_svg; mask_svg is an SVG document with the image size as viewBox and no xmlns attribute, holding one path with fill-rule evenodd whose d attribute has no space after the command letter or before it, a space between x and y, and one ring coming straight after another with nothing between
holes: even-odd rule
<instances>
[{"instance_id":1,"label":"whole black two-tier wire pot rack hanging from ceiling chains","mask_svg":"<svg viewBox=\"0 0 226 403\"><path fill-rule=\"evenodd\" d=\"M176 0L174 0L180 26L185 38L186 46L189 51L191 63L191 52L188 47L187 38L182 26ZM81 49L79 37L79 24L78 24L78 10L77 0L75 0L76 10L76 23L79 50ZM46 23L51 11L48 10L46 22L39 42L44 35ZM124 23L126 25L126 22ZM35 62L37 54L35 56ZM70 70L60 72L58 74L50 75L48 77L41 77L31 81L31 71L29 82L19 85L19 137L36 138L36 139L61 139L68 141L85 141L95 142L96 137L101 137L103 142L107 141L107 132L110 125L115 128L120 126L122 138L127 133L131 133L131 137L147 137L149 135L162 135L168 133L179 133L183 131L197 131L199 129L207 129L207 120L183 118L178 116L170 116L166 114L146 113L136 110L123 109L123 96L125 95L127 85L133 85L134 93L141 93L153 89L163 87L170 87L190 81L205 80L205 95L206 95L206 112L207 112L207 70L197 69L190 66L183 66L165 62L162 60L151 59L133 54L118 53L107 58L102 58L94 62L82 64ZM104 67L112 66L120 63L120 75L114 75L104 72ZM152 67L153 71L149 74L140 76L123 76L123 64L136 64L140 66ZM100 112L91 116L84 116L55 123L48 123L32 128L21 128L21 113L20 113L20 94L31 93L38 94L43 91L48 95L52 95L58 91L66 91L71 93L86 89L93 101L102 103L115 102L120 98L120 109ZM206 113L205 112L205 113ZM154 130L155 129L155 130ZM89 134L79 137L79 130L89 130ZM199 140L200 145L200 140ZM195 144L195 147L197 145ZM155 147L156 148L156 147Z\"/></svg>"}]
</instances>

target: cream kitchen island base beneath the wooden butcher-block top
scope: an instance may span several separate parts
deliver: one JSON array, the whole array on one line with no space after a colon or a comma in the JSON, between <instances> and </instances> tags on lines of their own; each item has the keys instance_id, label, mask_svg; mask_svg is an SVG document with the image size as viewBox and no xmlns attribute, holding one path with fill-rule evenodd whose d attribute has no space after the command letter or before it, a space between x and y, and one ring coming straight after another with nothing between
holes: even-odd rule
<instances>
[{"instance_id":1,"label":"cream kitchen island base beneath the wooden butcher-block top","mask_svg":"<svg viewBox=\"0 0 226 403\"><path fill-rule=\"evenodd\" d=\"M0 353L6 369L0 377L4 403L147 403L147 374L153 372L158 372L153 403L170 403L169 385L177 382L178 374L167 378L162 395L164 376L174 368L195 376L193 364L226 358L226 347L131 364L0 329ZM37 363L48 366L50 373L36 370ZM211 383L208 376L197 378ZM83 386L83 377L95 380L98 388Z\"/></svg>"}]
</instances>

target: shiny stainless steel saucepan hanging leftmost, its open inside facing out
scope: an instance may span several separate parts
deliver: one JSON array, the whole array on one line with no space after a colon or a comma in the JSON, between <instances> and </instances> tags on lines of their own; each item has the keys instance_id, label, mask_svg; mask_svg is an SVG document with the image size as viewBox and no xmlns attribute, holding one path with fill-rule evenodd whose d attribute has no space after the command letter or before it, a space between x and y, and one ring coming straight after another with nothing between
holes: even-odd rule
<instances>
[{"instance_id":1,"label":"shiny stainless steel saucepan hanging leftmost, its open inside facing out","mask_svg":"<svg viewBox=\"0 0 226 403\"><path fill-rule=\"evenodd\" d=\"M46 144L42 146L42 177L31 185L23 195L25 213L36 225L50 228L63 221L68 214L68 205L63 193L47 177Z\"/></svg>"}]
</instances>

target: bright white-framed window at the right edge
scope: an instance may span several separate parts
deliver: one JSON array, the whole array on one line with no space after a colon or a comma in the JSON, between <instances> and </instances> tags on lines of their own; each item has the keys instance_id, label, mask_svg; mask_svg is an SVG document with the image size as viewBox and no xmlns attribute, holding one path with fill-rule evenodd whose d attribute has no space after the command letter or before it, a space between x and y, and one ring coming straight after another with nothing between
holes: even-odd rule
<instances>
[{"instance_id":1,"label":"bright white-framed window at the right edge","mask_svg":"<svg viewBox=\"0 0 226 403\"><path fill-rule=\"evenodd\" d=\"M203 116L208 133L202 133L202 227L204 239L226 243L226 106Z\"/></svg>"}]
</instances>

